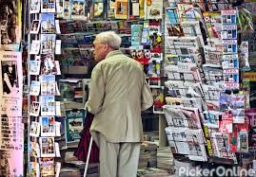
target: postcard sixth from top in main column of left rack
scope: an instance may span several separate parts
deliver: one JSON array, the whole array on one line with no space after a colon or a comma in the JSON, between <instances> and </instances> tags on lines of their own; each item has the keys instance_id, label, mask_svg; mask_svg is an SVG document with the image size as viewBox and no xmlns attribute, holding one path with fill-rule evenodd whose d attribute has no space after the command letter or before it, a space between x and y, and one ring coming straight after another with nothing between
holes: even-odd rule
<instances>
[{"instance_id":1,"label":"postcard sixth from top in main column of left rack","mask_svg":"<svg viewBox=\"0 0 256 177\"><path fill-rule=\"evenodd\" d=\"M55 97L41 96L41 115L55 115Z\"/></svg>"}]
</instances>

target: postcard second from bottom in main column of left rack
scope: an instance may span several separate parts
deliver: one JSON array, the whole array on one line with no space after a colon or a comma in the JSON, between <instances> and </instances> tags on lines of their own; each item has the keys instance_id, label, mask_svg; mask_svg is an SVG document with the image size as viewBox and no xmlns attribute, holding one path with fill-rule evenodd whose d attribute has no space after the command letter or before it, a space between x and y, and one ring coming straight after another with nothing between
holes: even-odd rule
<instances>
[{"instance_id":1,"label":"postcard second from bottom in main column of left rack","mask_svg":"<svg viewBox=\"0 0 256 177\"><path fill-rule=\"evenodd\" d=\"M40 137L39 142L41 157L55 157L54 137Z\"/></svg>"}]
</instances>

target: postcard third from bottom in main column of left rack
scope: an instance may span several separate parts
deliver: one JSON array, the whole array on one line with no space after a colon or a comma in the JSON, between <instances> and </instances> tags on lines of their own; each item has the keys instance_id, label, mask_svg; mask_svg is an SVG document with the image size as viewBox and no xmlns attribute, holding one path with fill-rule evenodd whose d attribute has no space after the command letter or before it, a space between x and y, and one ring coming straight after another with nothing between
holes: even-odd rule
<instances>
[{"instance_id":1,"label":"postcard third from bottom in main column of left rack","mask_svg":"<svg viewBox=\"0 0 256 177\"><path fill-rule=\"evenodd\" d=\"M40 116L41 136L55 136L55 117Z\"/></svg>"}]
</instances>

